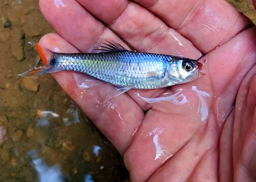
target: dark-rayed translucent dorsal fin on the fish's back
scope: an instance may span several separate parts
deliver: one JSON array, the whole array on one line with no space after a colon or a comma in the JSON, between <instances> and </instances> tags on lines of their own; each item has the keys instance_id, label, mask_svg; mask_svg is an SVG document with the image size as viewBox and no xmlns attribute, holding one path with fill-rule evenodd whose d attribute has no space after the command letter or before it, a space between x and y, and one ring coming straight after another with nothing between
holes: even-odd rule
<instances>
[{"instance_id":1,"label":"dark-rayed translucent dorsal fin on the fish's back","mask_svg":"<svg viewBox=\"0 0 256 182\"><path fill-rule=\"evenodd\" d=\"M113 40L102 40L96 43L92 52L117 52L117 51L129 51L125 49L120 43Z\"/></svg>"}]
</instances>

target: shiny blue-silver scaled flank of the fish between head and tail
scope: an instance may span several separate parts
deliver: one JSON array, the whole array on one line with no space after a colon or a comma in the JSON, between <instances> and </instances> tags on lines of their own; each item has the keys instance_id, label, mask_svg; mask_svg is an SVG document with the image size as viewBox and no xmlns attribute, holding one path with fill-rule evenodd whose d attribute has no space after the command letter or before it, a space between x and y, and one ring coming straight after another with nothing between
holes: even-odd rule
<instances>
[{"instance_id":1,"label":"shiny blue-silver scaled flank of the fish between head and tail","mask_svg":"<svg viewBox=\"0 0 256 182\"><path fill-rule=\"evenodd\" d=\"M54 55L56 59L55 66L60 70L83 72L115 85L134 85L134 87L141 88L156 86L149 85L148 82L146 85L148 75L154 73L151 77L164 77L167 62L171 59L168 56L142 55L129 51L87 54L84 56L74 55L72 60L70 56L66 54Z\"/></svg>"}]
</instances>

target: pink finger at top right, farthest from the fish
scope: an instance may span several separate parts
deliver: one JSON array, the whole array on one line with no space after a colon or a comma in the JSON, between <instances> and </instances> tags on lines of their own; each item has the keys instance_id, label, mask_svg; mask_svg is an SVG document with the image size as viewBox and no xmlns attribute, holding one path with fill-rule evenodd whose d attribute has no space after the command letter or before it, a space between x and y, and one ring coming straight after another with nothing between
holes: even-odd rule
<instances>
[{"instance_id":1,"label":"pink finger at top right, farthest from the fish","mask_svg":"<svg viewBox=\"0 0 256 182\"><path fill-rule=\"evenodd\" d=\"M222 0L135 2L187 37L203 53L213 50L250 23L234 7Z\"/></svg>"}]
</instances>

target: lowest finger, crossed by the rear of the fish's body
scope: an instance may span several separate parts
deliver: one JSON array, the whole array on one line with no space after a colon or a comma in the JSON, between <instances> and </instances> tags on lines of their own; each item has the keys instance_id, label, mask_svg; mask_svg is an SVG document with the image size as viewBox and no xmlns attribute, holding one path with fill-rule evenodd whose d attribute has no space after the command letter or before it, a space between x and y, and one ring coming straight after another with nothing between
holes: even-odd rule
<instances>
[{"instance_id":1,"label":"lowest finger, crossed by the rear of the fish's body","mask_svg":"<svg viewBox=\"0 0 256 182\"><path fill-rule=\"evenodd\" d=\"M59 50L65 53L78 52L77 49L57 34L45 35L40 43L50 50ZM60 72L54 73L53 76L122 154L130 145L134 132L142 122L144 113L126 94L102 104L102 100L107 97L108 92L111 92L112 86L110 85L94 86L89 88L86 93L81 92L74 79L74 76L77 76L76 74Z\"/></svg>"}]
</instances>

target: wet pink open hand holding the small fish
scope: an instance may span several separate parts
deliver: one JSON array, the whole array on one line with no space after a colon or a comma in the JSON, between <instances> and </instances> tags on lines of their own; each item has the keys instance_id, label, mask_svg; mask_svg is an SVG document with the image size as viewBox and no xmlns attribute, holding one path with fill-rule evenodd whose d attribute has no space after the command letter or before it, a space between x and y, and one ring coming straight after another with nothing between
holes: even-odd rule
<instances>
[{"instance_id":1,"label":"wet pink open hand holding the small fish","mask_svg":"<svg viewBox=\"0 0 256 182\"><path fill-rule=\"evenodd\" d=\"M133 181L256 180L256 29L227 2L41 0L40 8L59 34L40 43L56 52L89 52L102 38L121 41L105 22L138 51L207 58L200 79L130 90L105 104L112 86L81 90L74 74L85 75L53 74L123 155ZM182 104L138 97L179 88Z\"/></svg>"}]
</instances>

